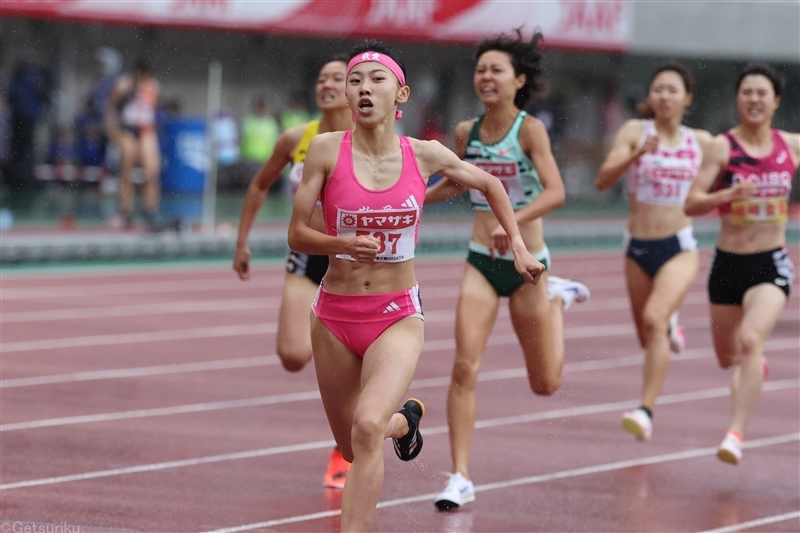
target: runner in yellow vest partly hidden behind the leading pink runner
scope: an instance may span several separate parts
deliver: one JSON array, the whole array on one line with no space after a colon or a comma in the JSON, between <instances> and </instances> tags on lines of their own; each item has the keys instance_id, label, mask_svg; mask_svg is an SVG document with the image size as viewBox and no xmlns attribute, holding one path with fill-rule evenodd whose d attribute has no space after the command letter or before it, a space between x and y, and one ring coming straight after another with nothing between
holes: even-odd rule
<instances>
[{"instance_id":1,"label":"runner in yellow vest partly hidden behind the leading pink runner","mask_svg":"<svg viewBox=\"0 0 800 533\"><path fill-rule=\"evenodd\" d=\"M294 193L303 177L303 164L311 139L318 133L353 128L352 111L345 98L346 68L347 58L344 56L336 56L322 66L315 90L317 107L322 112L321 118L284 131L278 138L274 152L250 182L242 206L236 255L233 259L233 269L242 280L250 279L248 235L258 210L266 200L267 192L284 167L290 163L292 165L289 181ZM324 231L321 209L315 211L313 225ZM278 357L289 372L298 372L311 361L311 302L327 270L327 255L310 255L289 250L277 334ZM343 488L349 469L350 463L344 460L338 448L334 449L323 485L333 489Z\"/></svg>"}]
</instances>

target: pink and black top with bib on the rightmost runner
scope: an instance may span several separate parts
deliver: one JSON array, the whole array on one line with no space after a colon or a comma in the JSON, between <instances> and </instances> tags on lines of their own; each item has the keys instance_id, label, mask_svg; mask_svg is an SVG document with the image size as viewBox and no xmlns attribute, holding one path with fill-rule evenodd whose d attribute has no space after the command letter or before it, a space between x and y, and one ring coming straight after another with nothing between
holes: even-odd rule
<instances>
[{"instance_id":1,"label":"pink and black top with bib on the rightmost runner","mask_svg":"<svg viewBox=\"0 0 800 533\"><path fill-rule=\"evenodd\" d=\"M772 130L772 152L765 157L748 155L730 131L723 135L730 143L730 156L716 190L749 181L756 184L756 192L747 200L720 206L720 214L731 214L734 224L786 222L789 193L797 166L781 134Z\"/></svg>"}]
</instances>

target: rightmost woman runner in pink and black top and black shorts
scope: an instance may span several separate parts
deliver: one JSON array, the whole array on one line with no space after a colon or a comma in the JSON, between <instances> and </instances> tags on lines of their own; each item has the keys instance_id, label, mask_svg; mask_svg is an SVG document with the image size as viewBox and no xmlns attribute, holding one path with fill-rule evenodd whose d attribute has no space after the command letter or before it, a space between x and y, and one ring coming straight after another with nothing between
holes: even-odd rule
<instances>
[{"instance_id":1,"label":"rightmost woman runner in pink and black top and black shorts","mask_svg":"<svg viewBox=\"0 0 800 533\"><path fill-rule=\"evenodd\" d=\"M800 134L772 127L782 88L767 65L750 65L739 75L739 125L714 138L684 206L689 216L714 208L721 215L708 297L717 361L722 368L736 367L733 421L717 452L734 465L742 459L745 426L767 373L764 343L786 307L794 278L786 221Z\"/></svg>"}]
</instances>

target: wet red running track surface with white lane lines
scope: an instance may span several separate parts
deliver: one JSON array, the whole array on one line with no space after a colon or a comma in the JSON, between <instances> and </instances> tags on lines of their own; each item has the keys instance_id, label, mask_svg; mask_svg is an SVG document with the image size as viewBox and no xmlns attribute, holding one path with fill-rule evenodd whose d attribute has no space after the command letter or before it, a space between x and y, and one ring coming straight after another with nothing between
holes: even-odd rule
<instances>
[{"instance_id":1,"label":"wet red running track surface with white lane lines","mask_svg":"<svg viewBox=\"0 0 800 533\"><path fill-rule=\"evenodd\" d=\"M374 531L737 530L770 517L755 529L800 530L797 285L767 345L755 447L730 467L714 456L730 374L710 348L708 253L681 310L689 349L672 363L648 443L620 427L642 371L621 263L619 253L556 254L556 272L584 280L592 299L565 315L568 364L552 397L528 390L501 312L478 390L477 500L439 513L463 262L418 261L426 348L412 391L427 407L425 450L406 464L387 444ZM332 441L313 368L290 375L271 355L282 276L280 265L248 283L223 267L4 275L2 531L14 521L338 530L340 495L321 487Z\"/></svg>"}]
</instances>

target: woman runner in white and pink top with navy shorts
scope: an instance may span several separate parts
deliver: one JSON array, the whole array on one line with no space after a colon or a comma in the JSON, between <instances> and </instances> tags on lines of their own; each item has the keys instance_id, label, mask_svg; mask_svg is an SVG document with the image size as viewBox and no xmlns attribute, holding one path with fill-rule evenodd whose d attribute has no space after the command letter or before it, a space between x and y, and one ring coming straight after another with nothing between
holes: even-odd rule
<instances>
[{"instance_id":1,"label":"woman runner in white and pink top with navy shorts","mask_svg":"<svg viewBox=\"0 0 800 533\"><path fill-rule=\"evenodd\" d=\"M605 190L628 176L625 278L645 363L642 404L623 414L622 426L640 440L652 435L670 351L680 352L686 344L678 308L699 266L692 220L683 212L683 202L711 135L682 124L692 86L691 74L680 64L656 69L640 106L642 119L620 128L595 180Z\"/></svg>"}]
</instances>

